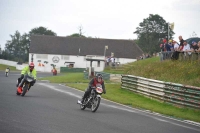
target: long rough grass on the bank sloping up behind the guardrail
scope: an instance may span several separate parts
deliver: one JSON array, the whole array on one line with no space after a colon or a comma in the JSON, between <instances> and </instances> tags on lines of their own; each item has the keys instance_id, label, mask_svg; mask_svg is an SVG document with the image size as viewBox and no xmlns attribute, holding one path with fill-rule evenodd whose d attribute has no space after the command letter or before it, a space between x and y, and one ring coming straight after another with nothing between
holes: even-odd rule
<instances>
[{"instance_id":1,"label":"long rough grass on the bank sloping up behind the guardrail","mask_svg":"<svg viewBox=\"0 0 200 133\"><path fill-rule=\"evenodd\" d=\"M131 63L125 74L200 87L200 64L197 61L160 61L149 58Z\"/></svg>"}]
</instances>

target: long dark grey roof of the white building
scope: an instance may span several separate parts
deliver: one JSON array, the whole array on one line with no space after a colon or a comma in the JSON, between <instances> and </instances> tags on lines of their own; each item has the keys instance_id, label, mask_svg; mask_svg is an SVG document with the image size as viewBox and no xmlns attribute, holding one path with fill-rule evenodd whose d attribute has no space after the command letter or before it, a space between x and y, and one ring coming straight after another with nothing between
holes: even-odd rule
<instances>
[{"instance_id":1,"label":"long dark grey roof of the white building","mask_svg":"<svg viewBox=\"0 0 200 133\"><path fill-rule=\"evenodd\" d=\"M133 40L114 40L97 38L58 37L46 35L31 36L30 53L59 55L100 55L117 58L133 58L142 55L143 51Z\"/></svg>"}]
</instances>

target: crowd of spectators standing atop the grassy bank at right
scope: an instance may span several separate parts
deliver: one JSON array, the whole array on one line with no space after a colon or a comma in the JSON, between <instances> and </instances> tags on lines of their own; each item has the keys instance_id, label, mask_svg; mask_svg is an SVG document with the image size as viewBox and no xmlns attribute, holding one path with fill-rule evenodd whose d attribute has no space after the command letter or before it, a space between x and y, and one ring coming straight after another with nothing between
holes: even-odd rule
<instances>
[{"instance_id":1,"label":"crowd of spectators standing atop the grassy bank at right","mask_svg":"<svg viewBox=\"0 0 200 133\"><path fill-rule=\"evenodd\" d=\"M188 44L186 40L183 40L182 36L179 36L179 42L175 40L169 40L167 42L166 39L163 40L163 43L160 44L161 52L170 52L171 59L177 60L179 58L179 53L184 53L185 56L191 56L192 53L200 52L200 41L197 43L192 41L192 44Z\"/></svg>"}]
</instances>

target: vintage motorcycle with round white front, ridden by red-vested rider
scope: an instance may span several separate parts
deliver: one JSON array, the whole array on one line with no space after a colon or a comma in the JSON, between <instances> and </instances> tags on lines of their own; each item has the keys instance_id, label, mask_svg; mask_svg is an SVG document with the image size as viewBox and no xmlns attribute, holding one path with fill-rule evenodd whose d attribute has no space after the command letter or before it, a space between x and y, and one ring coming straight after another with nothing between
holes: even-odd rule
<instances>
[{"instance_id":1,"label":"vintage motorcycle with round white front, ridden by red-vested rider","mask_svg":"<svg viewBox=\"0 0 200 133\"><path fill-rule=\"evenodd\" d=\"M100 105L102 93L102 86L100 84L97 84L96 87L92 88L90 95L83 100L83 103L78 100L77 104L80 104L81 110L84 110L85 108L90 108L92 112L95 112Z\"/></svg>"}]
</instances>

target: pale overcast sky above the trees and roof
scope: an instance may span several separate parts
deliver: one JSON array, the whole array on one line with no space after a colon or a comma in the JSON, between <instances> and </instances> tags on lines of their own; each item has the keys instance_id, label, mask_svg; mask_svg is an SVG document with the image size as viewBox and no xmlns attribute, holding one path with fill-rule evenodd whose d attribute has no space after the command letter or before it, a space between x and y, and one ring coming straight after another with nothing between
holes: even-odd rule
<instances>
[{"instance_id":1,"label":"pale overcast sky above the trees and roof","mask_svg":"<svg viewBox=\"0 0 200 133\"><path fill-rule=\"evenodd\" d=\"M149 14L174 22L174 39L200 36L200 0L0 0L0 45L10 34L43 26L67 36L78 33L108 39L136 39L133 34Z\"/></svg>"}]
</instances>

